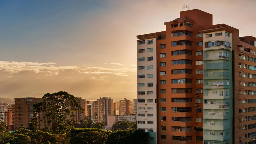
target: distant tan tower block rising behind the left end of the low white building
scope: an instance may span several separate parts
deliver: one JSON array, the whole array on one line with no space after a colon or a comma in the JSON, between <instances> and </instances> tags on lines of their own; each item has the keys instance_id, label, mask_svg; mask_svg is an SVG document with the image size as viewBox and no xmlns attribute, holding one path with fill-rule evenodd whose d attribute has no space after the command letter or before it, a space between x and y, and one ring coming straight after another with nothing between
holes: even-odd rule
<instances>
[{"instance_id":1,"label":"distant tan tower block rising behind the left end of the low white building","mask_svg":"<svg viewBox=\"0 0 256 144\"><path fill-rule=\"evenodd\" d=\"M108 124L108 116L114 113L114 103L111 97L100 97L92 103L92 120Z\"/></svg>"}]
</instances>

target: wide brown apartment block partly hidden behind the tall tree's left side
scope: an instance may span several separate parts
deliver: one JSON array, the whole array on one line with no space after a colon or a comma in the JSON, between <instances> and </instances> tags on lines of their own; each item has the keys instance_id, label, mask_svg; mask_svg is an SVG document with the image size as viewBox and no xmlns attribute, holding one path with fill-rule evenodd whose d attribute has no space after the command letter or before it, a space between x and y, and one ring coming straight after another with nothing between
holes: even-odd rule
<instances>
[{"instance_id":1,"label":"wide brown apartment block partly hidden behind the tall tree's left side","mask_svg":"<svg viewBox=\"0 0 256 144\"><path fill-rule=\"evenodd\" d=\"M43 101L42 98L24 97L15 98L14 104L14 130L17 130L20 126L28 127L29 121L33 117L33 105L36 102ZM44 127L44 122L41 123L41 127Z\"/></svg>"}]
</instances>

